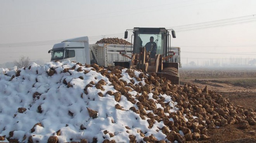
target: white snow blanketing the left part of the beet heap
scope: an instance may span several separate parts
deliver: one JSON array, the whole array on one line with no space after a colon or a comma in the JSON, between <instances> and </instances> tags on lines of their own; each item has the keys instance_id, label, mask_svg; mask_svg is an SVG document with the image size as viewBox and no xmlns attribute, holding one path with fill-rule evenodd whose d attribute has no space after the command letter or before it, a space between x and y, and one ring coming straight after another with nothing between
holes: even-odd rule
<instances>
[{"instance_id":1,"label":"white snow blanketing the left part of the beet heap","mask_svg":"<svg viewBox=\"0 0 256 143\"><path fill-rule=\"evenodd\" d=\"M74 70L64 72L64 69L73 66ZM78 68L82 71L78 72ZM48 75L53 69L55 73ZM164 126L163 121L148 128L149 118L142 119L139 114L130 110L131 107L138 109L137 105L128 101L124 95L116 101L115 96L107 94L108 91L118 91L114 89L109 78L91 69L92 67L86 68L70 61L48 62L43 66L33 63L25 69L1 68L0 136L5 136L3 142L8 142L6 138L28 142L30 137L33 142L46 143L50 136L57 136L59 143L82 139L92 142L93 138L97 138L98 142L106 139L129 142L129 135L136 136L136 141L140 142L143 141L140 133L167 141L166 135L159 131ZM85 74L85 70L89 72ZM126 70L122 70L120 79L127 83L133 79L133 85L139 82L145 85L143 78L142 81L137 81L135 77L130 77ZM17 71L20 71L19 75L16 75ZM136 77L140 74L135 70L133 72ZM86 85L92 82L96 84L100 80L106 82L106 85L102 85L103 89L97 89L92 84L87 88L88 94L85 92ZM99 96L99 92L103 96ZM136 91L128 93L134 98L141 95ZM153 99L152 95L149 93L149 99ZM159 97L164 97L165 103L171 101L171 97L166 94L160 94ZM116 104L123 110L116 109ZM169 106L173 107L171 112L176 112L175 104L173 101L169 103ZM162 108L160 104L156 106ZM96 117L89 116L90 109L97 111ZM37 123L41 125L33 128Z\"/></svg>"}]
</instances>

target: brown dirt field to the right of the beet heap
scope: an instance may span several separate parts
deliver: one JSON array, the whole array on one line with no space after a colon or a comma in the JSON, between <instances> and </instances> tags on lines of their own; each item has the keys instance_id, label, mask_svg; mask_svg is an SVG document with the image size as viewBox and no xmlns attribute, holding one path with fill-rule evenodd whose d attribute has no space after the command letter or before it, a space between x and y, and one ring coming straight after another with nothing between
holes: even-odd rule
<instances>
[{"instance_id":1,"label":"brown dirt field to the right of the beet heap","mask_svg":"<svg viewBox=\"0 0 256 143\"><path fill-rule=\"evenodd\" d=\"M184 83L192 83L201 89L207 85L208 90L228 97L234 105L256 111L256 68L180 68L180 84ZM255 130L256 126L239 129L236 124L229 124L209 129L211 138L199 142L256 143Z\"/></svg>"}]
</instances>

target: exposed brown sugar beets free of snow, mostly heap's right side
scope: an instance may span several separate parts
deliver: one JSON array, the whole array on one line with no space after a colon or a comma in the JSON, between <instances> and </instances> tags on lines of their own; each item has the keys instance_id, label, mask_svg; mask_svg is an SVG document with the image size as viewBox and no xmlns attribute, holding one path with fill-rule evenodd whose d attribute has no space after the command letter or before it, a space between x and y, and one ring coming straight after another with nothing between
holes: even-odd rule
<instances>
[{"instance_id":1,"label":"exposed brown sugar beets free of snow, mostly heap's right side","mask_svg":"<svg viewBox=\"0 0 256 143\"><path fill-rule=\"evenodd\" d=\"M76 66L83 66L77 63ZM85 74L90 72L88 70L82 70L82 67L67 68L63 72L69 72L69 70L77 70L78 72L84 72ZM108 91L107 94L113 95L118 102L121 95L124 95L128 101L136 105L130 108L131 111L139 114L142 119L147 120L149 123L148 128L160 121L163 121L164 125L159 128L159 131L166 134L166 140L157 140L153 135L145 136L145 134L138 130L140 136L143 137L145 142L173 142L178 141L183 143L185 141L192 140L206 140L209 139L208 129L215 129L227 124L239 124L239 128L246 129L250 125L255 126L256 112L253 109L245 109L242 106L234 106L227 97L223 97L217 94L215 91L208 90L207 86L204 89L185 84L173 85L170 80L165 78L159 78L156 73L140 73L136 77L134 71L136 69L127 69L126 73L132 78L134 77L139 83L135 84L133 79L129 83L120 79L122 77L121 70L124 69L120 66L109 67L104 69L102 66L96 64L84 65L86 68L93 67L91 70L101 73L103 76L109 78L109 81L118 92ZM111 71L111 72L109 72ZM140 70L138 70L140 71ZM141 72L141 71L140 71ZM17 72L18 73L18 72ZM54 75L54 69L48 72L49 76ZM19 76L19 75L16 75ZM142 81L146 83L142 84ZM72 87L65 80L63 81L68 87ZM88 94L87 88L95 86L97 89L104 90L102 85L106 85L104 80L100 80L98 83L91 82L86 85L84 92ZM128 91L136 91L139 94L133 96ZM153 94L153 99L149 98L149 93ZM160 94L166 94L171 96L173 102L177 102L176 108L178 111L170 112L171 108L169 102L164 102L164 97ZM101 92L99 96L105 96ZM157 104L161 104L163 108L157 108ZM124 110L119 104L115 105L116 109ZM89 115L95 118L97 111L88 109ZM95 113L95 114L93 114ZM166 114L168 113L168 114ZM185 118L184 118L185 115ZM195 118L195 116L197 118ZM170 118L173 121L170 121ZM81 127L82 129L82 127ZM129 132L130 127L126 127ZM184 136L179 133L182 131ZM106 132L107 133L107 132ZM130 142L137 142L136 137L132 134L129 135ZM49 143L56 143L57 136L50 136ZM87 143L85 139L81 140L81 143ZM93 142L97 142L97 138L93 139ZM115 143L115 140L104 140L104 143Z\"/></svg>"}]
</instances>

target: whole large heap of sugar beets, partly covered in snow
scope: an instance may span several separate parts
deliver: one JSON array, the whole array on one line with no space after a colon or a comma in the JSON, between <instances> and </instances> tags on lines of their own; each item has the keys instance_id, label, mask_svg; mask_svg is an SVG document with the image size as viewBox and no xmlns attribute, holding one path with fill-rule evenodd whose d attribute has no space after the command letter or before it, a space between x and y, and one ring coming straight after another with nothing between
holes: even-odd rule
<instances>
[{"instance_id":1,"label":"whole large heap of sugar beets, partly covered in snow","mask_svg":"<svg viewBox=\"0 0 256 143\"><path fill-rule=\"evenodd\" d=\"M184 142L256 119L207 88L70 61L0 69L0 102L3 142Z\"/></svg>"}]
</instances>

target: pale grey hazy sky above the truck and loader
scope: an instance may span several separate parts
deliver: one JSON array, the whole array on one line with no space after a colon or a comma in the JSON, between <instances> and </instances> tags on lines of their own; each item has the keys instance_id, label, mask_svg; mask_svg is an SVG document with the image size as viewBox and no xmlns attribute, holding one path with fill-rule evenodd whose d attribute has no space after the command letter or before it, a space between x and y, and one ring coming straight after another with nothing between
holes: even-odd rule
<instances>
[{"instance_id":1,"label":"pale grey hazy sky above the truck and loader","mask_svg":"<svg viewBox=\"0 0 256 143\"><path fill-rule=\"evenodd\" d=\"M50 61L54 43L124 37L133 27L176 31L182 63L256 58L256 0L0 0L0 63ZM216 54L221 53L221 54ZM187 60L188 59L188 60Z\"/></svg>"}]
</instances>

